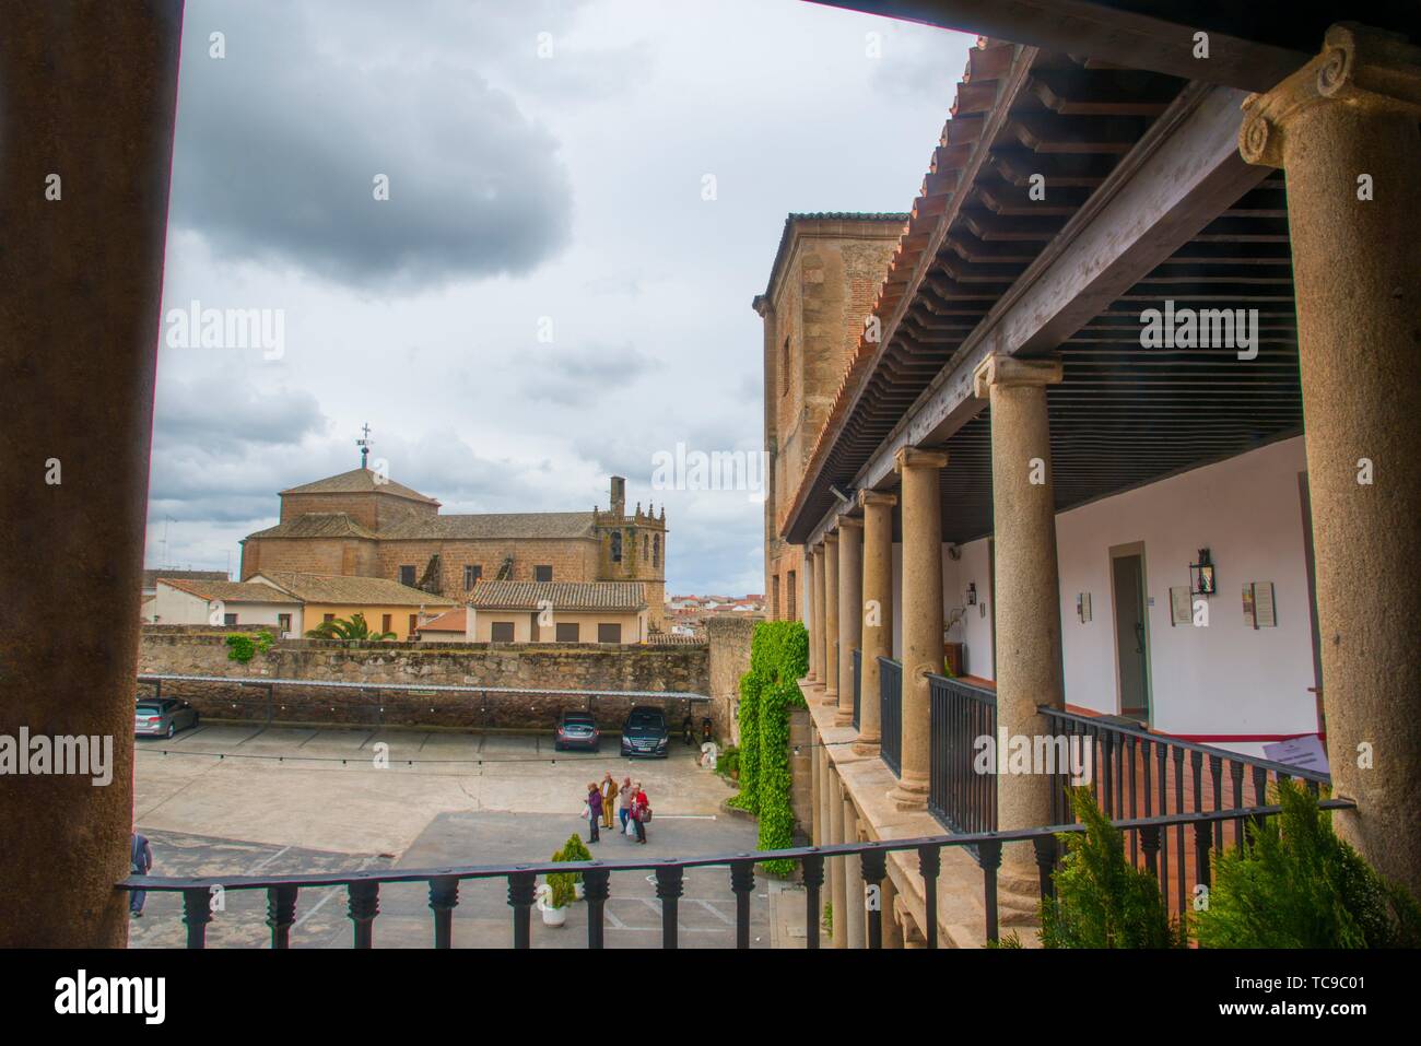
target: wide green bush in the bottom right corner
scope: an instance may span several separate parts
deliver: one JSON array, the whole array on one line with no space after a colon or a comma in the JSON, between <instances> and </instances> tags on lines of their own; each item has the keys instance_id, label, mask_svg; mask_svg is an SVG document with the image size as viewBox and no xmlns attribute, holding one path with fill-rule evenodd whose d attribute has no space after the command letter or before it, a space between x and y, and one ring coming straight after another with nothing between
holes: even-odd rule
<instances>
[{"instance_id":1,"label":"wide green bush in the bottom right corner","mask_svg":"<svg viewBox=\"0 0 1421 1046\"><path fill-rule=\"evenodd\" d=\"M1279 782L1282 814L1248 826L1248 843L1214 863L1195 917L1206 948L1415 948L1421 905L1337 839L1302 786Z\"/></svg>"}]
</instances>

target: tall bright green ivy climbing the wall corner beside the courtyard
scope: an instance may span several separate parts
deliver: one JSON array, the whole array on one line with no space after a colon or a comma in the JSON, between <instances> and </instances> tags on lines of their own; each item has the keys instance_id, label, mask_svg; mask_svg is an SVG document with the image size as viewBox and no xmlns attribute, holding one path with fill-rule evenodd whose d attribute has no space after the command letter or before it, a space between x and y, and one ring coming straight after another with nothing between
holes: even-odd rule
<instances>
[{"instance_id":1,"label":"tall bright green ivy climbing the wall corner beside the courtyard","mask_svg":"<svg viewBox=\"0 0 1421 1046\"><path fill-rule=\"evenodd\" d=\"M799 621L760 621L750 640L750 671L740 676L740 793L732 806L760 820L760 850L794 844L790 709L804 708L799 681L809 671L809 632ZM787 875L794 861L764 863Z\"/></svg>"}]
</instances>

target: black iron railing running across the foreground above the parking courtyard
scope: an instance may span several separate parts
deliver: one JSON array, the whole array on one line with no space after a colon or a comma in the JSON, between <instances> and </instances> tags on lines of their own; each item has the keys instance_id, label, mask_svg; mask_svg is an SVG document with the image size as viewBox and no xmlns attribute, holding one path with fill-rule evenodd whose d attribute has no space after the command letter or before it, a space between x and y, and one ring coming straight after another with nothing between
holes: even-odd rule
<instances>
[{"instance_id":1,"label":"black iron railing running across the foreground above the parking courtyard","mask_svg":"<svg viewBox=\"0 0 1421 1046\"><path fill-rule=\"evenodd\" d=\"M1323 800L1324 809L1351 809L1349 800ZM1211 850L1216 830L1226 821L1242 826L1248 819L1270 817L1280 813L1277 806L1253 806L1235 810L1199 810L1168 814L1162 817L1141 817L1120 821L1118 827L1135 834L1142 841L1145 867L1157 877L1161 866L1157 861L1160 840L1168 829L1185 824L1194 826L1194 867L1196 881L1209 885ZM1036 866L1040 874L1040 894L1047 898L1053 893L1052 874L1060 854L1060 834L1083 831L1081 824L1053 824L1040 829L1016 831L978 831L959 836L931 836L874 843L844 843L823 847L796 847L740 854L718 854L712 857L666 858L645 861L567 861L529 863L500 866L470 866L452 868L351 871L333 875L236 875L232 878L159 878L131 875L117 884L119 890L146 890L152 893L179 893L183 900L183 922L188 927L188 947L205 948L207 925L213 921L213 891L264 890L267 895L267 927L271 929L273 948L290 948L291 931L296 925L296 911L303 890L318 887L345 887L347 914L351 920L355 948L372 948L375 944L375 920L379 915L379 890L392 883L425 883L429 888L429 908L433 912L433 947L453 947L453 911L459 904L459 884L469 880L504 880L507 883L509 907L513 918L513 947L531 948L531 912L537 891L537 877L550 873L581 873L587 901L587 947L603 947L604 910L611 895L614 874L651 871L657 898L661 902L661 945L679 945L678 901L686 868L723 866L730 873L730 893L735 895L735 939L736 948L750 947L750 894L755 890L755 866L767 860L791 860L800 866L804 885L806 947L820 947L821 890L824 885L824 860L857 857L863 868L867 891L881 894L887 877L887 858L892 851L917 851L918 873L924 881L925 910L938 911L938 875L942 867L944 847L969 847L976 854L982 868L982 907L985 937L998 941L996 874L1002 863L1002 847L1009 843L1032 843ZM1242 831L1242 827L1239 827ZM881 905L865 904L867 945L882 947ZM837 912L836 912L837 915ZM928 948L938 947L938 921L928 918L924 927Z\"/></svg>"}]
</instances>

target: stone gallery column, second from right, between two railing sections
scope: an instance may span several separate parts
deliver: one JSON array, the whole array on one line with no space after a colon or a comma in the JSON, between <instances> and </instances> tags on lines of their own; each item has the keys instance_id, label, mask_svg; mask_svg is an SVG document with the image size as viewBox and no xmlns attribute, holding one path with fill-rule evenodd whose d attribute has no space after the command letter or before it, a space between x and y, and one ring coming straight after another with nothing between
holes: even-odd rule
<instances>
[{"instance_id":1,"label":"stone gallery column, second from right, between two railing sections","mask_svg":"<svg viewBox=\"0 0 1421 1046\"><path fill-rule=\"evenodd\" d=\"M992 530L996 543L996 728L1009 738L1047 732L1037 705L1061 705L1060 581L1046 387L1061 379L1059 358L992 355L972 375L992 405ZM998 826L1052 823L1047 775L998 773ZM1030 844L1003 848L1005 880L1039 888ZM1027 877L1027 881L1020 881ZM1005 883L1003 890L1012 887Z\"/></svg>"}]
</instances>

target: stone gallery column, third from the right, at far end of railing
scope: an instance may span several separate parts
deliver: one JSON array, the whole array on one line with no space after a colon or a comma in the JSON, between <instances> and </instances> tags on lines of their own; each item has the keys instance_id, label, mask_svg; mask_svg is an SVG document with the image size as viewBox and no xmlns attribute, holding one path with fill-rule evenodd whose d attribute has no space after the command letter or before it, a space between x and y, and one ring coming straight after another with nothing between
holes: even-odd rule
<instances>
[{"instance_id":1,"label":"stone gallery column, third from the right, at far end of railing","mask_svg":"<svg viewBox=\"0 0 1421 1046\"><path fill-rule=\"evenodd\" d=\"M928 806L928 674L942 674L942 493L945 451L905 446L902 480L902 773L888 794L901 810Z\"/></svg>"}]
</instances>

